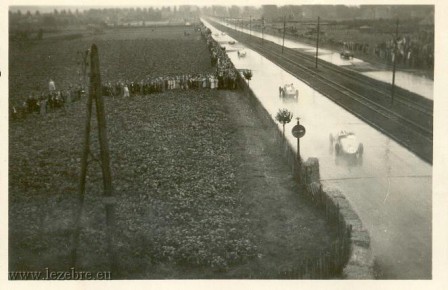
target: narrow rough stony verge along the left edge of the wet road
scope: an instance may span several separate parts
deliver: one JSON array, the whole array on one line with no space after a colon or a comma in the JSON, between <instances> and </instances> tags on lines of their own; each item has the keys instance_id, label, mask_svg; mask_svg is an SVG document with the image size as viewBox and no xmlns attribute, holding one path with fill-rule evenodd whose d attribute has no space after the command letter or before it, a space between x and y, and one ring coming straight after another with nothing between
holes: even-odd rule
<instances>
[{"instance_id":1,"label":"narrow rough stony verge along the left edge of the wet road","mask_svg":"<svg viewBox=\"0 0 448 290\"><path fill-rule=\"evenodd\" d=\"M255 113L265 126L276 127L275 138L277 142L284 144L283 156L288 161L296 181L304 181L306 185L302 187L302 194L305 194L313 201L317 208L324 208L326 213L333 212L333 217L337 219L338 229L348 228L349 233L349 251L346 257L342 257L344 265L342 266L341 278L346 280L373 280L374 275L374 258L370 247L370 235L364 228L358 214L353 210L349 201L342 192L337 189L323 189L320 183L319 160L318 158L309 158L303 162L301 170L298 170L296 163L296 153L289 142L283 139L283 133L279 126L275 123L273 116L263 107L255 93L248 86L246 81L240 75L240 87L245 95L250 98L250 102L254 105ZM300 178L300 179L299 179ZM303 184L299 184L301 187ZM333 226L334 220L328 220Z\"/></svg>"}]
</instances>

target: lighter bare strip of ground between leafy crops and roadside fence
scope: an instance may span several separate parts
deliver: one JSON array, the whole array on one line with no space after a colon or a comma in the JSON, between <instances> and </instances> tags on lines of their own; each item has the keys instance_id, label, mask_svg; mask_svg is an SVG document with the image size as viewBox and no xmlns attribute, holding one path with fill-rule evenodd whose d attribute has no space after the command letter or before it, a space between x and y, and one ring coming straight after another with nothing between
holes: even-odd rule
<instances>
[{"instance_id":1,"label":"lighter bare strip of ground between leafy crops and roadside fence","mask_svg":"<svg viewBox=\"0 0 448 290\"><path fill-rule=\"evenodd\" d=\"M250 205L248 215L258 220L253 229L263 241L258 262L286 269L304 257L318 255L331 242L331 230L321 213L298 194L275 142L276 129L263 127L243 94L223 91L222 95L231 120L240 128L233 136L235 155L240 160L237 180L245 203ZM253 264L247 266L256 271Z\"/></svg>"}]
</instances>

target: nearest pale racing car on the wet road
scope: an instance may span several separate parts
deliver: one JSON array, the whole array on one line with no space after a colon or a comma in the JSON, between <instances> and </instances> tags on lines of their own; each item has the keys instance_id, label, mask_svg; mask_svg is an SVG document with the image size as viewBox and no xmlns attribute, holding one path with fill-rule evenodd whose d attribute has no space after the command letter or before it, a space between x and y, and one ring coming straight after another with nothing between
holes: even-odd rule
<instances>
[{"instance_id":1,"label":"nearest pale racing car on the wet road","mask_svg":"<svg viewBox=\"0 0 448 290\"><path fill-rule=\"evenodd\" d=\"M336 136L330 134L330 146L336 153L336 163L341 157L350 162L362 163L364 146L353 132L342 130Z\"/></svg>"}]
</instances>

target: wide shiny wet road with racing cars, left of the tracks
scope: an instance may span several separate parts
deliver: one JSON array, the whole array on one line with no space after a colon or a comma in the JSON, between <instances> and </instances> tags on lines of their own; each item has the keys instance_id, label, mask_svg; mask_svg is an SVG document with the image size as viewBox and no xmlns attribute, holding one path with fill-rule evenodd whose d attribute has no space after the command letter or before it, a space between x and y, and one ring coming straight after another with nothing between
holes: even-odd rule
<instances>
[{"instance_id":1,"label":"wide shiny wet road with racing cars, left of the tracks","mask_svg":"<svg viewBox=\"0 0 448 290\"><path fill-rule=\"evenodd\" d=\"M307 129L302 158L319 158L323 185L341 190L361 217L371 235L378 278L431 279L432 166L252 50L245 48L246 57L239 58L237 50L244 45L230 45L229 36L212 32L236 68L253 71L250 87L272 117L283 108L300 117ZM279 86L290 83L299 90L297 101L279 97ZM286 125L294 147L295 124L293 119ZM342 129L363 143L362 164L336 158L331 150L329 135Z\"/></svg>"}]
</instances>

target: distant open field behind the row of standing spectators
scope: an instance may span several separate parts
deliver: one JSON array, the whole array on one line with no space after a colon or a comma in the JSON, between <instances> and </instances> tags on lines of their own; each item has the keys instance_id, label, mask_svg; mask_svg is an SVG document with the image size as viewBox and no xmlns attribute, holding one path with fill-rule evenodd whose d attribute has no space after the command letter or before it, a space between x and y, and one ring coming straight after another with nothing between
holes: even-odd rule
<instances>
[{"instance_id":1,"label":"distant open field behind the row of standing spectators","mask_svg":"<svg viewBox=\"0 0 448 290\"><path fill-rule=\"evenodd\" d=\"M184 31L190 35L185 36ZM47 92L50 78L56 89L78 86L84 79L82 53L92 43L98 46L103 82L213 71L207 46L193 28L110 29L104 34L86 33L75 39L69 34L67 38L10 43L12 104L19 104L31 93Z\"/></svg>"}]
</instances>

